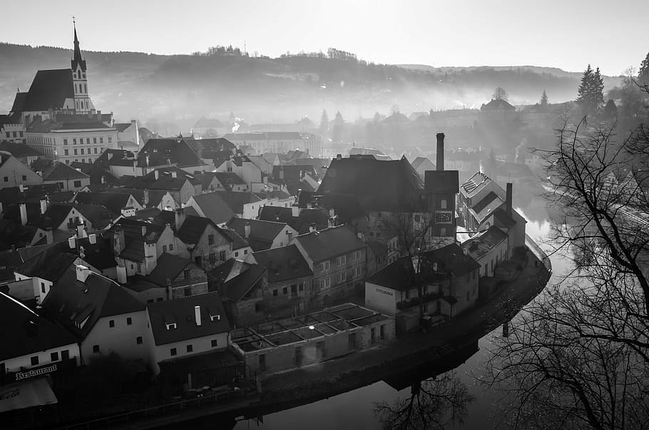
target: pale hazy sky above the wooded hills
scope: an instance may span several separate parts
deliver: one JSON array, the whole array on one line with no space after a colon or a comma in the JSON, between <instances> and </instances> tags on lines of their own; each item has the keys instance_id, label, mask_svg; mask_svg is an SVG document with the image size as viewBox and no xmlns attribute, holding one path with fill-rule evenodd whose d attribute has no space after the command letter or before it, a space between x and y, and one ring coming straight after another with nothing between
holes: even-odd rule
<instances>
[{"instance_id":1,"label":"pale hazy sky above the wooded hills","mask_svg":"<svg viewBox=\"0 0 649 430\"><path fill-rule=\"evenodd\" d=\"M327 51L376 63L555 66L607 75L649 51L646 0L111 0L8 1L0 41L82 50L251 54ZM1 64L0 64L1 67Z\"/></svg>"}]
</instances>

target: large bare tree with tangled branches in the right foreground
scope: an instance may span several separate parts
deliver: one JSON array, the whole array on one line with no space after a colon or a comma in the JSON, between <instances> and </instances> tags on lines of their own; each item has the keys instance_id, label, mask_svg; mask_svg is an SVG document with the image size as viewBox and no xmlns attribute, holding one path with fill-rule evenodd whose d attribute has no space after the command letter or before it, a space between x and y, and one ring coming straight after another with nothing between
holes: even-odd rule
<instances>
[{"instance_id":1,"label":"large bare tree with tangled branches in the right foreground","mask_svg":"<svg viewBox=\"0 0 649 430\"><path fill-rule=\"evenodd\" d=\"M565 214L554 252L573 270L496 339L484 382L525 428L649 427L649 139L558 130L546 199Z\"/></svg>"}]
</instances>

